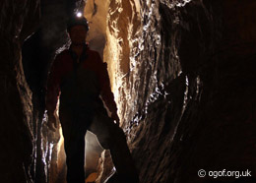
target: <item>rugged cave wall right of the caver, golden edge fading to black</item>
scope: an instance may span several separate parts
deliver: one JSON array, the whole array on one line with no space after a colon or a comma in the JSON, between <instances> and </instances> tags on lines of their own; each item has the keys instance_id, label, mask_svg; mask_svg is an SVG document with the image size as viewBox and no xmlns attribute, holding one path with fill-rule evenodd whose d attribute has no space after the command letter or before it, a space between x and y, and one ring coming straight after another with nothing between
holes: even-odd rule
<instances>
[{"instance_id":1,"label":"rugged cave wall right of the caver, golden edge fading to black","mask_svg":"<svg viewBox=\"0 0 256 183\"><path fill-rule=\"evenodd\" d=\"M249 169L255 177L255 3L134 4L109 4L105 50L141 181L253 181L197 171Z\"/></svg>"}]
</instances>

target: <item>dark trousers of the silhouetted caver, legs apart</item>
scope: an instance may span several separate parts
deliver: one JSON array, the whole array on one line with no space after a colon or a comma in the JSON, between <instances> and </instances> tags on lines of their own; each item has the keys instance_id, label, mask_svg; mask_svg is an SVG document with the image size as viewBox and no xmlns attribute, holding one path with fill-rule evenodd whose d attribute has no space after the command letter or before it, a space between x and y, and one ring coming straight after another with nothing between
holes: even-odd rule
<instances>
[{"instance_id":1,"label":"dark trousers of the silhouetted caver, legs apart","mask_svg":"<svg viewBox=\"0 0 256 183\"><path fill-rule=\"evenodd\" d=\"M85 135L93 132L101 147L110 150L120 182L137 183L138 174L126 144L121 128L108 117L105 109L97 110L94 115L78 117L68 111L60 110L64 148L67 163L67 182L85 183Z\"/></svg>"}]
</instances>

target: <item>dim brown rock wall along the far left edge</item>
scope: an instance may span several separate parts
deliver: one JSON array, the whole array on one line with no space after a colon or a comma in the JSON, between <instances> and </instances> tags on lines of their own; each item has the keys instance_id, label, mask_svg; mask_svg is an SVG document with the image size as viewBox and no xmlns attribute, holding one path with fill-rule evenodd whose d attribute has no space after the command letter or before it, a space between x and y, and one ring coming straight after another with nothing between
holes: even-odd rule
<instances>
[{"instance_id":1,"label":"dim brown rock wall along the far left edge","mask_svg":"<svg viewBox=\"0 0 256 183\"><path fill-rule=\"evenodd\" d=\"M24 77L21 42L36 28L39 4L38 1L1 1L0 9L0 179L1 182L31 182L32 92ZM30 28L26 28L28 24Z\"/></svg>"}]
</instances>

